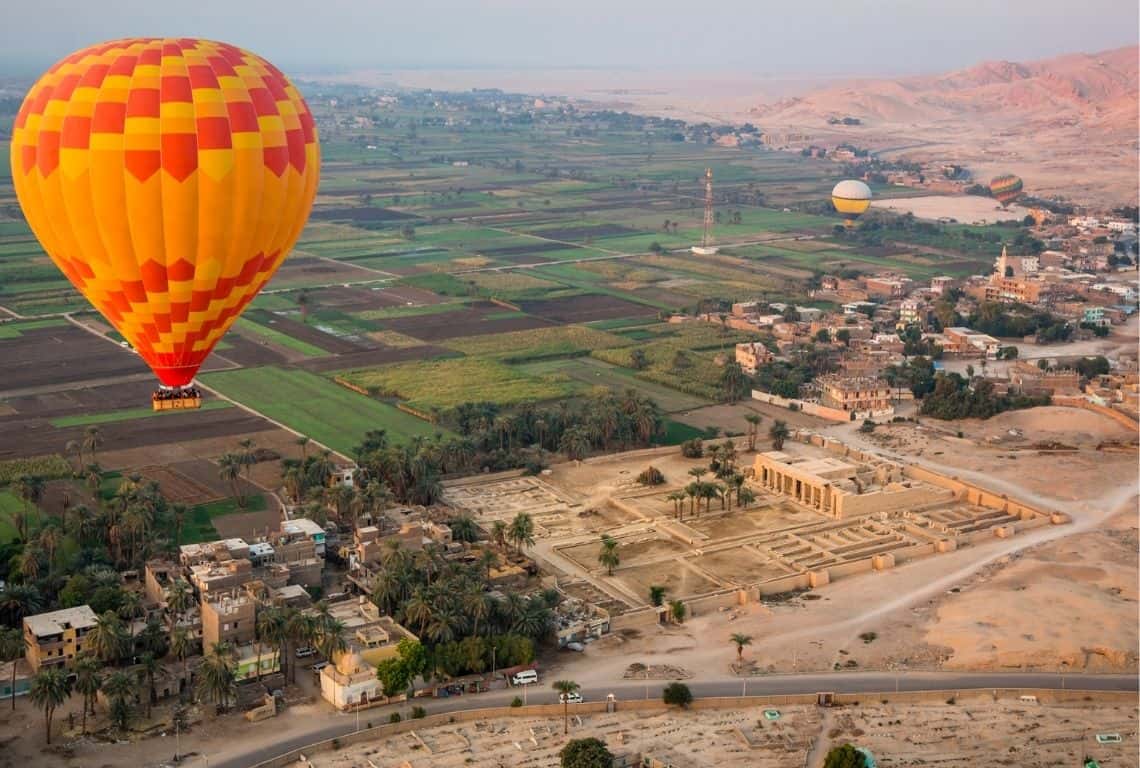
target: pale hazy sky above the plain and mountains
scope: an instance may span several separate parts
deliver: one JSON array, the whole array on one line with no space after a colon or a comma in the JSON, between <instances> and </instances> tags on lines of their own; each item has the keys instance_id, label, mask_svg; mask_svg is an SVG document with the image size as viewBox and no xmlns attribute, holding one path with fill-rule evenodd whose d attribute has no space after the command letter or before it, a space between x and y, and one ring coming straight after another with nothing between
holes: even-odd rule
<instances>
[{"instance_id":1,"label":"pale hazy sky above the plain and mountains","mask_svg":"<svg viewBox=\"0 0 1140 768\"><path fill-rule=\"evenodd\" d=\"M1138 24L1137 0L6 0L0 74L135 35L214 38L295 74L910 74L1135 44Z\"/></svg>"}]
</instances>

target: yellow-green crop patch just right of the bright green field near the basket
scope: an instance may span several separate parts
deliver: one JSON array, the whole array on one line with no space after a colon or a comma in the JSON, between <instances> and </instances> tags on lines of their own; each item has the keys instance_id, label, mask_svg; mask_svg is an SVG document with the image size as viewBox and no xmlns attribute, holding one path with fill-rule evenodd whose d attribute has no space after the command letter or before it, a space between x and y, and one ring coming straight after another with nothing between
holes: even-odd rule
<instances>
[{"instance_id":1,"label":"yellow-green crop patch just right of the bright green field near the basket","mask_svg":"<svg viewBox=\"0 0 1140 768\"><path fill-rule=\"evenodd\" d=\"M537 402L570 395L577 389L557 376L531 376L480 358L402 362L350 370L343 378L370 392L407 400L421 410L484 400L504 406Z\"/></svg>"}]
</instances>

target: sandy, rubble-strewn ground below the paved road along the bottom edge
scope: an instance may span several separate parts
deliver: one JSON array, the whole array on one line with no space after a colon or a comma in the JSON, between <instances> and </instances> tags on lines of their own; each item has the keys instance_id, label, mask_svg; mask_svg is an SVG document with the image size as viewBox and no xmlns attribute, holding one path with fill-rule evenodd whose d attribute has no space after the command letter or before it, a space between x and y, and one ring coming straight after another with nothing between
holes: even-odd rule
<instances>
[{"instance_id":1,"label":"sandy, rubble-strewn ground below the paved road along the bottom edge","mask_svg":"<svg viewBox=\"0 0 1140 768\"><path fill-rule=\"evenodd\" d=\"M418 729L325 752L315 768L459 768L477 765L553 766L573 737L602 738L610 751L654 757L677 768L785 768L823 765L832 745L855 743L883 766L1001 765L1020 768L1135 765L1137 711L1125 705L1024 704L988 696L951 703L879 703L821 710L781 706L768 721L763 708L586 714L569 736L559 717L511 718ZM904 727L901 727L904 726ZM1122 743L1100 745L1097 733ZM976 762L975 762L976 761Z\"/></svg>"}]
</instances>

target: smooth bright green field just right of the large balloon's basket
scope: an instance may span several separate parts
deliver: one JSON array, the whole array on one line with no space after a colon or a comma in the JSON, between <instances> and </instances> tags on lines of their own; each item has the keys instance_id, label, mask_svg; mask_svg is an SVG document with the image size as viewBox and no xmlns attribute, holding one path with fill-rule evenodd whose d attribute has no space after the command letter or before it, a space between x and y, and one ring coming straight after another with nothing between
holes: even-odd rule
<instances>
[{"instance_id":1,"label":"smooth bright green field just right of the large balloon's basket","mask_svg":"<svg viewBox=\"0 0 1140 768\"><path fill-rule=\"evenodd\" d=\"M274 366L204 374L202 381L342 454L368 430L388 430L396 442L439 430L410 414L304 370Z\"/></svg>"}]
</instances>

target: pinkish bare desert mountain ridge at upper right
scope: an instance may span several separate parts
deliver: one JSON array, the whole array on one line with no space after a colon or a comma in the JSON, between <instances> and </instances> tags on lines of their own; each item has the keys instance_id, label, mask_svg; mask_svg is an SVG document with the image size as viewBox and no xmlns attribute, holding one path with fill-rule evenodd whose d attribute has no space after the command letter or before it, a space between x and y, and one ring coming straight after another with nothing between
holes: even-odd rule
<instances>
[{"instance_id":1,"label":"pinkish bare desert mountain ridge at upper right","mask_svg":"<svg viewBox=\"0 0 1140 768\"><path fill-rule=\"evenodd\" d=\"M1040 194L1134 202L1138 62L1137 46L1027 63L984 62L937 75L848 81L756 106L750 114L768 131L966 163L979 177L1015 170ZM842 117L861 124L829 123Z\"/></svg>"}]
</instances>

